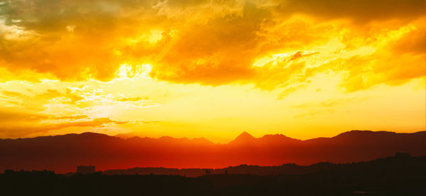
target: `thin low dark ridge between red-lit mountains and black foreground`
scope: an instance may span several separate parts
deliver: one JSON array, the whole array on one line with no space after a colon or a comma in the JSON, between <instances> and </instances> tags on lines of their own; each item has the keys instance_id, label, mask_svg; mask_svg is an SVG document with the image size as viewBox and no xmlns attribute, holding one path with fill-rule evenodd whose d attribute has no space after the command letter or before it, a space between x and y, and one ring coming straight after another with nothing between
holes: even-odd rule
<instances>
[{"instance_id":1,"label":"thin low dark ridge between red-lit mountains and black foreground","mask_svg":"<svg viewBox=\"0 0 426 196\"><path fill-rule=\"evenodd\" d=\"M410 164L410 165L408 165ZM182 175L186 177L200 177L202 175L306 175L323 171L346 171L364 170L364 173L374 173L377 170L383 170L384 165L387 169L395 167L413 168L413 170L426 170L426 156L411 157L408 153L396 153L395 156L378 158L367 162L356 163L328 163L321 162L312 165L297 165L295 163L286 163L277 166L259 166L259 165L237 165L226 168L129 168L125 170L105 170L104 175ZM70 174L72 175L72 174Z\"/></svg>"}]
</instances>

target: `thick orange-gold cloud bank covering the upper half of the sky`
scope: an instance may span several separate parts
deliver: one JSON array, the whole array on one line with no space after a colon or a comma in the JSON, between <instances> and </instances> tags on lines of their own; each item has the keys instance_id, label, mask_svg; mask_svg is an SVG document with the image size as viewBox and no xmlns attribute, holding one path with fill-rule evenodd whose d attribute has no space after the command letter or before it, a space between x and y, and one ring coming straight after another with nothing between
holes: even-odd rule
<instances>
[{"instance_id":1,"label":"thick orange-gold cloud bank covering the upper half of the sky","mask_svg":"<svg viewBox=\"0 0 426 196\"><path fill-rule=\"evenodd\" d=\"M425 1L221 2L4 1L0 66L108 81L149 63L157 80L284 92L320 72L349 92L424 75Z\"/></svg>"}]
</instances>

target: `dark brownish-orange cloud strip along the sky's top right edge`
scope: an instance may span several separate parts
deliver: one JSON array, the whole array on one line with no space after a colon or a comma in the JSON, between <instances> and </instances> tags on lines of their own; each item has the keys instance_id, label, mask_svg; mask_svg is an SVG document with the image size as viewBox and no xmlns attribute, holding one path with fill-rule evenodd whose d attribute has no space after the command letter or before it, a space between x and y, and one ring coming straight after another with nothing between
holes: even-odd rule
<instances>
[{"instance_id":1,"label":"dark brownish-orange cloud strip along the sky's top right edge","mask_svg":"<svg viewBox=\"0 0 426 196\"><path fill-rule=\"evenodd\" d=\"M278 3L276 10L280 13L305 13L326 19L349 18L359 23L393 18L410 20L425 14L425 1L422 0L275 0L275 2Z\"/></svg>"}]
</instances>

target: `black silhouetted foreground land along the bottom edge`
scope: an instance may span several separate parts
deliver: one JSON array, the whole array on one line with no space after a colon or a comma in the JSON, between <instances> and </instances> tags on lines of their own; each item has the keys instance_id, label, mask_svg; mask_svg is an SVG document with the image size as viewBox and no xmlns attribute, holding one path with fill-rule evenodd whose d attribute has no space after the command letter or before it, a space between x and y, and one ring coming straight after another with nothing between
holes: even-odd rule
<instances>
[{"instance_id":1,"label":"black silhouetted foreground land along the bottom edge","mask_svg":"<svg viewBox=\"0 0 426 196\"><path fill-rule=\"evenodd\" d=\"M11 171L0 195L426 195L426 156L318 163L299 175L58 175Z\"/></svg>"}]
</instances>

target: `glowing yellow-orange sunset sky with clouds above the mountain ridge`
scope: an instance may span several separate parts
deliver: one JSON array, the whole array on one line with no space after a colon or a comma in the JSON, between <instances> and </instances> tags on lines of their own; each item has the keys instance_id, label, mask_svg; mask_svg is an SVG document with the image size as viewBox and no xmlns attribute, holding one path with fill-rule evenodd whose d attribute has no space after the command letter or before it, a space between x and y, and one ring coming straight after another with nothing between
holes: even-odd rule
<instances>
[{"instance_id":1,"label":"glowing yellow-orange sunset sky with clouds above the mountain ridge","mask_svg":"<svg viewBox=\"0 0 426 196\"><path fill-rule=\"evenodd\" d=\"M0 0L0 138L425 131L424 0Z\"/></svg>"}]
</instances>

